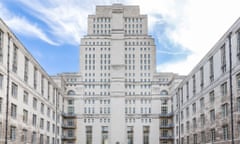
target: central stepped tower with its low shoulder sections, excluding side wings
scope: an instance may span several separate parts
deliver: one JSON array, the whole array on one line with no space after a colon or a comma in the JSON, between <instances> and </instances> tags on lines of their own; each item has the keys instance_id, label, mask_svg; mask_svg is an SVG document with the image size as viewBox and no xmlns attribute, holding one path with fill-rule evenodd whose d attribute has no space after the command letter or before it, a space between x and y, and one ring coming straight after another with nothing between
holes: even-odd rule
<instances>
[{"instance_id":1,"label":"central stepped tower with its low shoulder sections, excluding side wings","mask_svg":"<svg viewBox=\"0 0 240 144\"><path fill-rule=\"evenodd\" d=\"M156 73L155 57L138 6L97 6L81 39L80 73L59 75L66 81L64 110L74 113L66 121L76 126L64 128L76 136L66 142L172 143L169 91L181 77Z\"/></svg>"}]
</instances>

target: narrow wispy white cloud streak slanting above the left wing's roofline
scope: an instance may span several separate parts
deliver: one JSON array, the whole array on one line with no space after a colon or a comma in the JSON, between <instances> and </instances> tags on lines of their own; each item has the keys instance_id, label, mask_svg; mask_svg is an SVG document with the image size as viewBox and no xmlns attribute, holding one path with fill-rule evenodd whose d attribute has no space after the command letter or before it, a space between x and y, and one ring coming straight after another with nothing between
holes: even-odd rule
<instances>
[{"instance_id":1,"label":"narrow wispy white cloud streak slanting above the left wing's roofline","mask_svg":"<svg viewBox=\"0 0 240 144\"><path fill-rule=\"evenodd\" d=\"M57 45L56 42L53 42L50 38L46 36L46 34L37 26L37 24L29 22L24 17L14 15L10 11L8 11L1 3L0 9L0 17L3 18L4 21L6 21L7 25L13 31L29 37L40 38L51 45Z\"/></svg>"}]
</instances>

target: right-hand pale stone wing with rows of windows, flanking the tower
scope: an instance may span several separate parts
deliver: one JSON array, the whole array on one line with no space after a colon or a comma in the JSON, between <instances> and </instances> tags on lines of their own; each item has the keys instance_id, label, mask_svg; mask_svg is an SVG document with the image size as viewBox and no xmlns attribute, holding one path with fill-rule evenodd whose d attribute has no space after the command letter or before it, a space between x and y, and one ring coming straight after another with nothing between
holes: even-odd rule
<instances>
[{"instance_id":1,"label":"right-hand pale stone wing with rows of windows, flanking the tower","mask_svg":"<svg viewBox=\"0 0 240 144\"><path fill-rule=\"evenodd\" d=\"M240 143L239 28L240 19L176 89L176 144Z\"/></svg>"}]
</instances>

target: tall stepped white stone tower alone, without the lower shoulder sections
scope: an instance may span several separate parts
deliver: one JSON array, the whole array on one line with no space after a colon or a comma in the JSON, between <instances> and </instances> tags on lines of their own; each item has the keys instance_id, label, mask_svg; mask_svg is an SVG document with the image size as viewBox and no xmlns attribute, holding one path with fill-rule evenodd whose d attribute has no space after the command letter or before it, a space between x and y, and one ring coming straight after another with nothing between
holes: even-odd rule
<instances>
[{"instance_id":1,"label":"tall stepped white stone tower alone, without the lower shoulder sections","mask_svg":"<svg viewBox=\"0 0 240 144\"><path fill-rule=\"evenodd\" d=\"M151 93L155 45L147 32L147 16L138 6L97 6L89 15L80 49L81 143L159 142Z\"/></svg>"}]
</instances>

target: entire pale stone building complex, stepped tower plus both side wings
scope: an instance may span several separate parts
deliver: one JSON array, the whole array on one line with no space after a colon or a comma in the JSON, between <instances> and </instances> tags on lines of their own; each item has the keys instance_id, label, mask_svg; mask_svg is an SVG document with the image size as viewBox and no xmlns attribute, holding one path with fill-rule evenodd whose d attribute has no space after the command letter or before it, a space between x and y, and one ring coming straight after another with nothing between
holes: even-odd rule
<instances>
[{"instance_id":1,"label":"entire pale stone building complex, stepped tower plus both side wings","mask_svg":"<svg viewBox=\"0 0 240 144\"><path fill-rule=\"evenodd\" d=\"M0 20L0 143L239 143L239 28L186 77L158 73L139 7L97 6L80 72L50 77Z\"/></svg>"}]
</instances>

